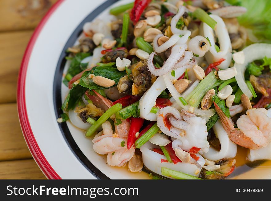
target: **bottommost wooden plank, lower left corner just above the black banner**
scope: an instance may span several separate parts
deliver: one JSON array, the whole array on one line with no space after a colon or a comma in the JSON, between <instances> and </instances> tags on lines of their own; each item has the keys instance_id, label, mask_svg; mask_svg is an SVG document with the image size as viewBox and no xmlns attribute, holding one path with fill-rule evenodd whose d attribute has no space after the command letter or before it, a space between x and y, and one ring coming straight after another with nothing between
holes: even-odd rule
<instances>
[{"instance_id":1,"label":"bottommost wooden plank, lower left corner just above the black banner","mask_svg":"<svg viewBox=\"0 0 271 201\"><path fill-rule=\"evenodd\" d=\"M46 179L34 159L0 162L0 179Z\"/></svg>"}]
</instances>

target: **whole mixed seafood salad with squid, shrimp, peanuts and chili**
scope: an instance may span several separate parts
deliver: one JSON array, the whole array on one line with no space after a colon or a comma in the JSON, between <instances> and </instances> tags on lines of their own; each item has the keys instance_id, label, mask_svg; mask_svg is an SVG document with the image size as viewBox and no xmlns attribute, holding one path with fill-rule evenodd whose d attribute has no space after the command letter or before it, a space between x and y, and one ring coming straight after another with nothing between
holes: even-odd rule
<instances>
[{"instance_id":1,"label":"whole mixed seafood salad with squid, shrimp, peanuts and chili","mask_svg":"<svg viewBox=\"0 0 271 201\"><path fill-rule=\"evenodd\" d=\"M105 165L159 179L271 160L270 38L242 2L136 0L85 23L58 123L84 130Z\"/></svg>"}]
</instances>

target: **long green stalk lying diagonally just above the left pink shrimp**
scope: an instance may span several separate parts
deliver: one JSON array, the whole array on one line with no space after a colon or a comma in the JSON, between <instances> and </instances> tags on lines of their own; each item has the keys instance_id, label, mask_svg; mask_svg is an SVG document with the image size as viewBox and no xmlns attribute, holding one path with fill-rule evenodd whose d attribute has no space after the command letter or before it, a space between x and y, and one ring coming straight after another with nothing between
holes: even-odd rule
<instances>
[{"instance_id":1,"label":"long green stalk lying diagonally just above the left pink shrimp","mask_svg":"<svg viewBox=\"0 0 271 201\"><path fill-rule=\"evenodd\" d=\"M87 130L86 136L90 137L91 135L93 135L97 129L108 119L110 118L112 115L114 115L116 112L118 112L119 110L121 110L122 105L120 103L117 103L115 105L113 105L112 107L110 107L107 111L105 111L105 113L103 113L102 116L100 116L100 118Z\"/></svg>"}]
</instances>

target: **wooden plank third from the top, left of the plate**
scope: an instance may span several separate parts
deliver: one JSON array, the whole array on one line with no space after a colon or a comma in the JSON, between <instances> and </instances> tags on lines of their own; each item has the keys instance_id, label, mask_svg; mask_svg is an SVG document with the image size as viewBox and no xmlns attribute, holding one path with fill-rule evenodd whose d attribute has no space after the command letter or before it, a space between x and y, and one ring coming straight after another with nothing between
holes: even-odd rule
<instances>
[{"instance_id":1,"label":"wooden plank third from the top, left of the plate","mask_svg":"<svg viewBox=\"0 0 271 201\"><path fill-rule=\"evenodd\" d=\"M23 138L16 103L0 104L0 161L30 159Z\"/></svg>"}]
</instances>

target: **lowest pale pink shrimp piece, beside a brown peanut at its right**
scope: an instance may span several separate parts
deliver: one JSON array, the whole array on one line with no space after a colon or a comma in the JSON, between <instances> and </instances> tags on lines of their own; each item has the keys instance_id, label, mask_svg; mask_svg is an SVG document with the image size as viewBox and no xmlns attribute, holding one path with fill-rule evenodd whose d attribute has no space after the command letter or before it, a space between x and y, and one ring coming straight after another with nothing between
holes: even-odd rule
<instances>
[{"instance_id":1,"label":"lowest pale pink shrimp piece, beside a brown peanut at its right","mask_svg":"<svg viewBox=\"0 0 271 201\"><path fill-rule=\"evenodd\" d=\"M106 158L108 165L122 167L133 157L135 150L134 147L131 147L130 149L119 149L108 153Z\"/></svg>"}]
</instances>

